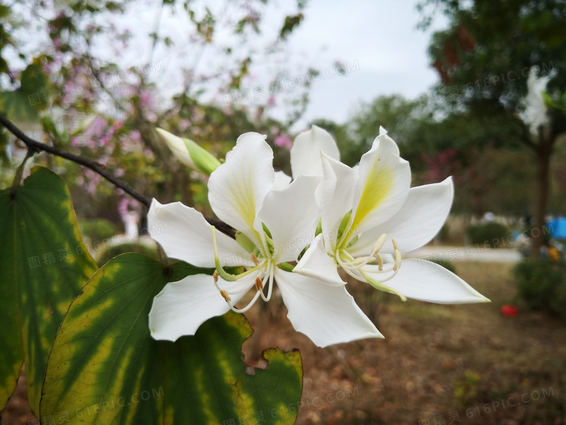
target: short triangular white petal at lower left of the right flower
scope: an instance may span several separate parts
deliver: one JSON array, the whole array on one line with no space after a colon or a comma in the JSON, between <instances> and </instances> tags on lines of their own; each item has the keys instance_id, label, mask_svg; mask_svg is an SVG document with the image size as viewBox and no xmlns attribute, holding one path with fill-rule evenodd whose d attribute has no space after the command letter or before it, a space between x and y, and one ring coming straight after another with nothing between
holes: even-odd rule
<instances>
[{"instance_id":1,"label":"short triangular white petal at lower left of the right flower","mask_svg":"<svg viewBox=\"0 0 566 425\"><path fill-rule=\"evenodd\" d=\"M301 257L301 261L293 269L293 273L334 286L346 283L338 274L336 260L326 252L321 234L315 237L314 242Z\"/></svg>"}]
</instances>

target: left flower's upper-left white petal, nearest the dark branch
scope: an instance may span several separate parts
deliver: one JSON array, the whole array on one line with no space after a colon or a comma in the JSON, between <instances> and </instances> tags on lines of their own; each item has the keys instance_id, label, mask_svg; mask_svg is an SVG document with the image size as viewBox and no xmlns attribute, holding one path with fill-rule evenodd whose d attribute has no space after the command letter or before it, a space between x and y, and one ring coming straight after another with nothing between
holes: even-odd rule
<instances>
[{"instance_id":1,"label":"left flower's upper-left white petal, nearest the dark branch","mask_svg":"<svg viewBox=\"0 0 566 425\"><path fill-rule=\"evenodd\" d=\"M181 202L161 205L156 199L147 213L148 230L169 258L178 258L197 267L214 267L211 225L194 208ZM249 254L234 239L216 231L218 256L222 266L253 265Z\"/></svg>"}]
</instances>

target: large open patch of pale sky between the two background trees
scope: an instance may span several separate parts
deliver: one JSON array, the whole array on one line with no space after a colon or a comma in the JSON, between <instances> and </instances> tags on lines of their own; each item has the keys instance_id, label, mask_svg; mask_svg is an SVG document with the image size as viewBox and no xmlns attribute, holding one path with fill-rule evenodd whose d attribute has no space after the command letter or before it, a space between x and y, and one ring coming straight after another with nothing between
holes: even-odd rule
<instances>
[{"instance_id":1,"label":"large open patch of pale sky between the two background trees","mask_svg":"<svg viewBox=\"0 0 566 425\"><path fill-rule=\"evenodd\" d=\"M415 29L419 20L415 4L415 0L308 3L291 46L310 45L312 60L320 69L340 59L358 61L359 71L312 84L305 121L344 122L360 101L396 93L417 99L438 80L426 53L431 31ZM439 16L432 28L443 25L446 21Z\"/></svg>"}]
</instances>

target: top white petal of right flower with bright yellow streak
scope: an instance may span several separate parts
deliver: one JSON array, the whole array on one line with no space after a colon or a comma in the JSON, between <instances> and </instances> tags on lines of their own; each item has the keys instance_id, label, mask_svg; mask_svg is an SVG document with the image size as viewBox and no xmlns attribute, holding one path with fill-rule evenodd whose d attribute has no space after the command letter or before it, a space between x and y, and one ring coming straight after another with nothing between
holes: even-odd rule
<instances>
[{"instance_id":1,"label":"top white petal of right flower with bright yellow streak","mask_svg":"<svg viewBox=\"0 0 566 425\"><path fill-rule=\"evenodd\" d=\"M359 180L354 194L354 226L363 232L385 220L403 205L409 193L409 163L399 157L393 140L382 134L359 162Z\"/></svg>"}]
</instances>

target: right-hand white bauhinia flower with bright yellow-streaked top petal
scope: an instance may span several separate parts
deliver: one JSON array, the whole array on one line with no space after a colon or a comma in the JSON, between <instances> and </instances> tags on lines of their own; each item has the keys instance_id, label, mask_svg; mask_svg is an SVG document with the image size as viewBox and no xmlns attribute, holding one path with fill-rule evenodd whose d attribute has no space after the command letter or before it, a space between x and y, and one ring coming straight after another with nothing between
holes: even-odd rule
<instances>
[{"instance_id":1,"label":"right-hand white bauhinia flower with bright yellow-streaked top petal","mask_svg":"<svg viewBox=\"0 0 566 425\"><path fill-rule=\"evenodd\" d=\"M396 143L383 128L357 171L320 154L323 181L316 191L320 233L294 273L336 284L341 266L359 281L403 300L489 301L438 264L401 259L402 252L422 247L443 226L452 206L451 177L410 188L409 163L400 158ZM312 155L311 161L315 160Z\"/></svg>"}]
</instances>

